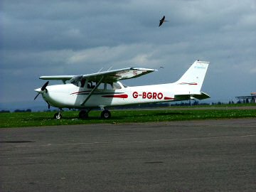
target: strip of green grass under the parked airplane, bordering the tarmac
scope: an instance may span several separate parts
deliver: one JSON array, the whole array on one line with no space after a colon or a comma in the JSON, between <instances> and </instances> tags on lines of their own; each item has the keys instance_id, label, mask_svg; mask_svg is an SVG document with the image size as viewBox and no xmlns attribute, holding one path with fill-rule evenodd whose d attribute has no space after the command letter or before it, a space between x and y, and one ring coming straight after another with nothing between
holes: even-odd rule
<instances>
[{"instance_id":1,"label":"strip of green grass under the parked airplane, bordering the tarmac","mask_svg":"<svg viewBox=\"0 0 256 192\"><path fill-rule=\"evenodd\" d=\"M63 112L63 119L53 119L55 112L11 112L0 114L0 127L38 127L68 124L100 124L129 122L168 122L195 119L256 118L256 110L112 110L111 119L100 119L100 111L92 111L88 119L78 119L78 112Z\"/></svg>"}]
</instances>

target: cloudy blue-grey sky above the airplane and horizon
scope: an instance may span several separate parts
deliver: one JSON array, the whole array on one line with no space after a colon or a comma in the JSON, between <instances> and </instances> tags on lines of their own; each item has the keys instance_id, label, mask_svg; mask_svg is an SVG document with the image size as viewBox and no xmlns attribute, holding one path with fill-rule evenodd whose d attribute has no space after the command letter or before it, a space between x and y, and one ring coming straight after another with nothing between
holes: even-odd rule
<instances>
[{"instance_id":1,"label":"cloudy blue-grey sky above the airplane and horizon","mask_svg":"<svg viewBox=\"0 0 256 192\"><path fill-rule=\"evenodd\" d=\"M174 82L197 59L210 61L209 100L256 91L255 0L4 0L0 29L1 105L31 105L41 75L164 66L125 82L149 85Z\"/></svg>"}]
</instances>

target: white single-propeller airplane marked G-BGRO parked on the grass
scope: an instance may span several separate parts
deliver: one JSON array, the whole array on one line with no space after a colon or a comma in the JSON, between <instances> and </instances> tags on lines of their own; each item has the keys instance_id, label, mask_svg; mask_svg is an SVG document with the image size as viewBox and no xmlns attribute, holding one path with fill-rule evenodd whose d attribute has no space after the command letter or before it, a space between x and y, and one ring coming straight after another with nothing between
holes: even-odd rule
<instances>
[{"instance_id":1,"label":"white single-propeller airplane marked G-BGRO parked on the grass","mask_svg":"<svg viewBox=\"0 0 256 192\"><path fill-rule=\"evenodd\" d=\"M80 109L81 119L86 119L90 110L100 108L101 117L108 119L111 114L105 107L209 98L201 92L208 65L209 62L196 60L176 82L136 87L127 87L119 80L138 78L155 70L124 68L87 75L41 76L42 80L62 80L63 84L48 86L46 82L35 91L43 96L48 107L59 108L59 112L54 114L55 119L62 117L63 108Z\"/></svg>"}]
</instances>

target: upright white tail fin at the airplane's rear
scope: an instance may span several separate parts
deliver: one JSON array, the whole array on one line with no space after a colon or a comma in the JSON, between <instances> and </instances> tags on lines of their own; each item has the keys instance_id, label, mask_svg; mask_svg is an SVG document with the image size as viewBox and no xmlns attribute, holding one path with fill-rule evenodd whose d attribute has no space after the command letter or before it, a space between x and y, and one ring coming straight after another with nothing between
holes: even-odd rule
<instances>
[{"instance_id":1,"label":"upright white tail fin at the airplane's rear","mask_svg":"<svg viewBox=\"0 0 256 192\"><path fill-rule=\"evenodd\" d=\"M176 81L176 85L182 85L181 90L186 92L199 93L203 85L203 80L206 76L209 62L196 60L190 68ZM183 87L183 88L182 88Z\"/></svg>"}]
</instances>

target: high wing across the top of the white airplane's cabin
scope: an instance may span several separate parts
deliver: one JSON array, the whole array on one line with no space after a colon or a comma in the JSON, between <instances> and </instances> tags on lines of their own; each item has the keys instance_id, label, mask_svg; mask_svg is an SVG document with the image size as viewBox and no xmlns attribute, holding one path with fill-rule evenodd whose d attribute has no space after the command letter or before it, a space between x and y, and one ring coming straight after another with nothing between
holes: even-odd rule
<instances>
[{"instance_id":1,"label":"high wing across the top of the white airplane's cabin","mask_svg":"<svg viewBox=\"0 0 256 192\"><path fill-rule=\"evenodd\" d=\"M70 80L70 82L78 82L82 79L89 79L95 82L117 82L117 80L127 80L130 78L138 78L139 76L146 75L154 72L154 69L149 68L123 68L119 70L108 70L100 73L91 73L87 75L51 75L41 76L42 80Z\"/></svg>"}]
</instances>

